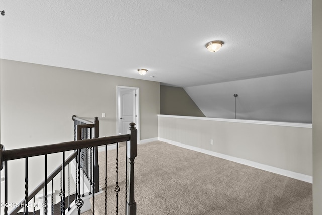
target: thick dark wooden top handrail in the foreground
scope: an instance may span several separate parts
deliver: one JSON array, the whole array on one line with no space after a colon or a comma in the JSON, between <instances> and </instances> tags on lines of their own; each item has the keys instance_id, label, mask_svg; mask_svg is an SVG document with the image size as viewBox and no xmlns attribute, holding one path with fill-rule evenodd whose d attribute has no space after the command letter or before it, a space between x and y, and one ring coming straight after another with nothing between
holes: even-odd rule
<instances>
[{"instance_id":1,"label":"thick dark wooden top handrail in the foreground","mask_svg":"<svg viewBox=\"0 0 322 215\"><path fill-rule=\"evenodd\" d=\"M125 142L130 140L130 134L124 134L119 136L108 136L96 139L85 139L78 140L77 144L75 141L61 142L59 144L50 144L36 147L26 147L13 150L3 150L2 156L0 155L1 161L10 161L20 158L28 158L39 155L52 154L57 152L65 152L70 150L83 149L88 147L96 147L108 144L115 144L115 142Z\"/></svg>"}]
</instances>

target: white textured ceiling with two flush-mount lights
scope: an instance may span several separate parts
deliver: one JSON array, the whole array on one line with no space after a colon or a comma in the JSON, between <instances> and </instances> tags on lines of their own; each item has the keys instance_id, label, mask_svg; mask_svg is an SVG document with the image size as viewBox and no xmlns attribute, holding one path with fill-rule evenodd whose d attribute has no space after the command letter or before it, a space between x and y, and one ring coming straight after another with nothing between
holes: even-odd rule
<instances>
[{"instance_id":1,"label":"white textured ceiling with two flush-mount lights","mask_svg":"<svg viewBox=\"0 0 322 215\"><path fill-rule=\"evenodd\" d=\"M311 69L311 7L308 0L2 0L0 58L180 87L292 73ZM224 41L219 52L205 48L212 40ZM141 76L138 68L149 71Z\"/></svg>"}]
</instances>

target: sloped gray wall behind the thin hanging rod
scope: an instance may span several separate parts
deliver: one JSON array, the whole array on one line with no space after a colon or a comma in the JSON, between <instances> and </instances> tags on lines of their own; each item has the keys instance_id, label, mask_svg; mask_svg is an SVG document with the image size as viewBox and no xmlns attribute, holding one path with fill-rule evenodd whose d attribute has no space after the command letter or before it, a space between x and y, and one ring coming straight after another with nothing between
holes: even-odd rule
<instances>
[{"instance_id":1,"label":"sloped gray wall behind the thin hanging rod","mask_svg":"<svg viewBox=\"0 0 322 215\"><path fill-rule=\"evenodd\" d=\"M311 123L312 71L184 88L206 117Z\"/></svg>"}]
</instances>

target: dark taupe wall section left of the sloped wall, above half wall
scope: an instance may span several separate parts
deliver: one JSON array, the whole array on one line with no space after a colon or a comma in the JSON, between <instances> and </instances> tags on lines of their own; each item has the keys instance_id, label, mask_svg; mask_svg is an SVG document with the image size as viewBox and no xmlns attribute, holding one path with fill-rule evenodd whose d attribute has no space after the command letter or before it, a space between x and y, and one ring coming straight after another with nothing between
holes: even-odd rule
<instances>
[{"instance_id":1,"label":"dark taupe wall section left of the sloped wall, above half wall","mask_svg":"<svg viewBox=\"0 0 322 215\"><path fill-rule=\"evenodd\" d=\"M181 87L161 85L161 114L205 116Z\"/></svg>"}]
</instances>

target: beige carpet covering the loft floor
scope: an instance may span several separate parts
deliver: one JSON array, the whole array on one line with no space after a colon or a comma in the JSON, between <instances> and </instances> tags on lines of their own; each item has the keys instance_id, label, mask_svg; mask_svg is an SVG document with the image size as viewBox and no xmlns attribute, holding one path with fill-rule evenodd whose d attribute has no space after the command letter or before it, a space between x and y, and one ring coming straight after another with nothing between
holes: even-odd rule
<instances>
[{"instance_id":1,"label":"beige carpet covering the loft floor","mask_svg":"<svg viewBox=\"0 0 322 215\"><path fill-rule=\"evenodd\" d=\"M119 153L124 158L125 147ZM114 154L108 151L113 171ZM99 154L99 165L103 187L105 152ZM125 167L119 168L118 212L124 214ZM108 175L115 179L111 169ZM115 214L114 187L115 182L108 183L107 214ZM104 199L104 193L95 197L95 214L105 213ZM312 214L312 184L157 141L138 145L135 201L139 215Z\"/></svg>"}]
</instances>

